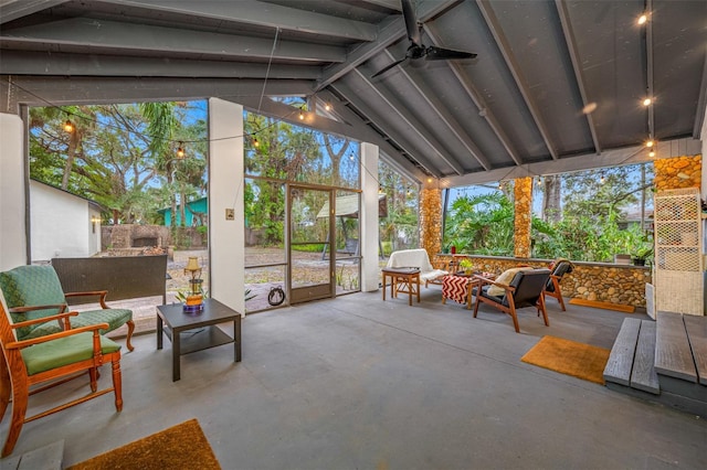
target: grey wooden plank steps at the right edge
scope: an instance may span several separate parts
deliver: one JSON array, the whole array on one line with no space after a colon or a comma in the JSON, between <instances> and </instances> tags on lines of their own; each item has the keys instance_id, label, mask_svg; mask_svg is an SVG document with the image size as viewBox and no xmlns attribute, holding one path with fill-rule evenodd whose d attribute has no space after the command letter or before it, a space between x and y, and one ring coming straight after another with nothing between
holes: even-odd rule
<instances>
[{"instance_id":1,"label":"grey wooden plank steps at the right edge","mask_svg":"<svg viewBox=\"0 0 707 470\"><path fill-rule=\"evenodd\" d=\"M626 318L604 368L604 382L642 398L707 416L707 318L658 312Z\"/></svg>"}]
</instances>

